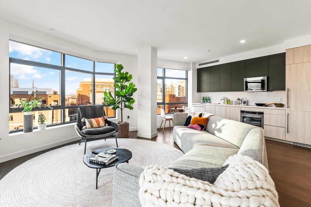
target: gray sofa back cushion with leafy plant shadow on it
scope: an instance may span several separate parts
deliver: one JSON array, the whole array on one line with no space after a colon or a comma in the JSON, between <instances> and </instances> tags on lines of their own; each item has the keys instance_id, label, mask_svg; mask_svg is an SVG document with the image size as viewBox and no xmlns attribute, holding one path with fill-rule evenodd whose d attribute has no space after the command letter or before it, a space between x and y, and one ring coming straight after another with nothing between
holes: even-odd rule
<instances>
[{"instance_id":1,"label":"gray sofa back cushion with leafy plant shadow on it","mask_svg":"<svg viewBox=\"0 0 311 207\"><path fill-rule=\"evenodd\" d=\"M259 127L218 116L211 116L208 119L205 130L240 148L244 138L253 128Z\"/></svg>"}]
</instances>

